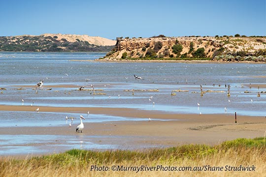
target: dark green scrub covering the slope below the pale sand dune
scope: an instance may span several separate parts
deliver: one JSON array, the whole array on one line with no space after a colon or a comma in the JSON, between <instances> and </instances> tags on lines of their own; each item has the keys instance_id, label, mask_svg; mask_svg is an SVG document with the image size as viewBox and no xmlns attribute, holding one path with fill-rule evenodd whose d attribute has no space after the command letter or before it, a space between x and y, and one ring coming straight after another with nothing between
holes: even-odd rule
<instances>
[{"instance_id":1,"label":"dark green scrub covering the slope below the pale sand dune","mask_svg":"<svg viewBox=\"0 0 266 177\"><path fill-rule=\"evenodd\" d=\"M57 36L0 36L0 51L19 52L109 52L114 46L97 46L88 41L68 42Z\"/></svg>"}]
</instances>

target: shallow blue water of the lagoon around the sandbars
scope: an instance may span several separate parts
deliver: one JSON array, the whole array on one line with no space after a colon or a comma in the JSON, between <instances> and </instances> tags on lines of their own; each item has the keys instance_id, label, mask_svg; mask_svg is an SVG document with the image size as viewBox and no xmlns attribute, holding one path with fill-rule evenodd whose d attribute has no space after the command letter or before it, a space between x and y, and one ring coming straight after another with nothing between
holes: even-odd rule
<instances>
[{"instance_id":1,"label":"shallow blue water of the lagoon around the sandbars","mask_svg":"<svg viewBox=\"0 0 266 177\"><path fill-rule=\"evenodd\" d=\"M260 97L257 97L257 93L266 91L266 89L248 87L249 84L251 86L266 84L265 78L252 77L266 76L265 64L115 63L93 60L104 55L105 53L0 52L0 88L6 88L6 90L0 90L0 105L134 108L175 114L199 114L200 112L201 114L234 114L237 112L238 115L265 116L266 93L261 93ZM134 79L134 74L142 77L143 80ZM52 89L39 89L36 94L32 88L42 79L45 89L49 86ZM76 90L81 86L85 86L85 89L92 89L91 84L95 89L103 89L96 93L102 92L105 95L94 95L93 91ZM200 92L200 84L203 90L224 92L205 93L203 96L199 93L192 93ZM231 85L230 97L227 96L225 84ZM241 84L245 87L242 88ZM74 85L76 88L52 87L57 85ZM23 89L18 90L20 87ZM133 91L124 91L127 89L134 89L134 95ZM159 89L159 91L137 91L137 89ZM176 89L189 91L175 92L176 95L171 96L171 91ZM244 93L246 90L250 93ZM21 99L24 99L24 103ZM199 107L197 103L200 103ZM0 127L67 126L69 120L66 122L66 116L78 117L79 115L36 113L34 110L33 112L0 111ZM91 114L86 122L120 120L144 119ZM73 126L78 123L79 121L74 119ZM55 137L47 135L45 139L50 141ZM74 143L63 142L60 146L51 145L47 149L78 148L79 143L75 138L70 137L70 140ZM30 138L26 135L15 137L1 135L0 154L23 153L27 150L38 153L37 149L44 148L43 146L31 146L31 143L29 146L21 146L17 141L29 144ZM91 141L88 139L82 141L84 142L83 148L110 148L109 145L90 144ZM40 143L45 142L43 139Z\"/></svg>"}]
</instances>

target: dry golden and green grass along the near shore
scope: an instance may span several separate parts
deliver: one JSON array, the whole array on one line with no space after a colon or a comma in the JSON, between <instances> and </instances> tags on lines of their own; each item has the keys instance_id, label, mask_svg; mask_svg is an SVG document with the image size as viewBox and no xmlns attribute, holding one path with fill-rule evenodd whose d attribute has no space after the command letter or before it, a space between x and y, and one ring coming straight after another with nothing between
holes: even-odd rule
<instances>
[{"instance_id":1,"label":"dry golden and green grass along the near shore","mask_svg":"<svg viewBox=\"0 0 266 177\"><path fill-rule=\"evenodd\" d=\"M137 167L142 170L137 172ZM0 177L258 177L265 176L265 169L265 138L236 139L218 146L184 145L142 151L72 149L41 157L0 158Z\"/></svg>"}]
</instances>

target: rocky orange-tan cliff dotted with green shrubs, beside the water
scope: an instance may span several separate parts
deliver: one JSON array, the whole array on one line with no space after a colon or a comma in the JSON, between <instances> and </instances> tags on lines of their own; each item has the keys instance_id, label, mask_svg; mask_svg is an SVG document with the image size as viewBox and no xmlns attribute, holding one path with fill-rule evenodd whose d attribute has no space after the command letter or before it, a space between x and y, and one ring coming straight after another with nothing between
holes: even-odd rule
<instances>
[{"instance_id":1,"label":"rocky orange-tan cliff dotted with green shrubs, beside the water","mask_svg":"<svg viewBox=\"0 0 266 177\"><path fill-rule=\"evenodd\" d=\"M265 37L157 37L117 39L105 59L210 58L266 55ZM215 58L216 57L216 58ZM232 59L232 57L231 57ZM238 58L239 59L239 58ZM226 59L228 60L228 59Z\"/></svg>"}]
</instances>

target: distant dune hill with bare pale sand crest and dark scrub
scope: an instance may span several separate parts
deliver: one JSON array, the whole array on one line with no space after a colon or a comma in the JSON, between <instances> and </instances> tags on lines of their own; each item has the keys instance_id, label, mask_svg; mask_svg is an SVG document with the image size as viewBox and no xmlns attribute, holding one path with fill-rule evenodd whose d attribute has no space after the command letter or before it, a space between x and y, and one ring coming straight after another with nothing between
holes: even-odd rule
<instances>
[{"instance_id":1,"label":"distant dune hill with bare pale sand crest and dark scrub","mask_svg":"<svg viewBox=\"0 0 266 177\"><path fill-rule=\"evenodd\" d=\"M0 51L109 52L115 43L102 37L75 34L1 36Z\"/></svg>"}]
</instances>

